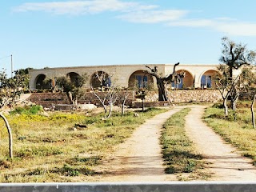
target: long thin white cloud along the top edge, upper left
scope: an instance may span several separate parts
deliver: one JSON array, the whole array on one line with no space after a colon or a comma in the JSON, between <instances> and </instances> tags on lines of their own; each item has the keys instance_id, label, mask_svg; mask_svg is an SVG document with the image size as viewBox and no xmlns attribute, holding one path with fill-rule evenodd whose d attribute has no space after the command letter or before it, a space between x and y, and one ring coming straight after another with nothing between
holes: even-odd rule
<instances>
[{"instance_id":1,"label":"long thin white cloud along the top edge, upper left","mask_svg":"<svg viewBox=\"0 0 256 192\"><path fill-rule=\"evenodd\" d=\"M54 14L97 14L103 11L150 10L157 6L119 0L86 0L67 2L26 2L14 8L16 12L46 11Z\"/></svg>"}]
</instances>

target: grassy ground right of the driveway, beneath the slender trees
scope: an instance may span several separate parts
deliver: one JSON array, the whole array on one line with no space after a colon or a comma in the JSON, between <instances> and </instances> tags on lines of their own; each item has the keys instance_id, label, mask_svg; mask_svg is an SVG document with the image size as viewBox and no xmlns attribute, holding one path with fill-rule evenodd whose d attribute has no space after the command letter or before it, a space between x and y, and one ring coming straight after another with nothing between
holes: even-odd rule
<instances>
[{"instance_id":1,"label":"grassy ground right of the driveway, beneath the slender trees","mask_svg":"<svg viewBox=\"0 0 256 192\"><path fill-rule=\"evenodd\" d=\"M238 104L236 120L233 115L226 118L219 106L214 105L206 110L205 122L226 142L238 147L242 155L252 158L256 166L256 130L251 123L250 104Z\"/></svg>"}]
</instances>

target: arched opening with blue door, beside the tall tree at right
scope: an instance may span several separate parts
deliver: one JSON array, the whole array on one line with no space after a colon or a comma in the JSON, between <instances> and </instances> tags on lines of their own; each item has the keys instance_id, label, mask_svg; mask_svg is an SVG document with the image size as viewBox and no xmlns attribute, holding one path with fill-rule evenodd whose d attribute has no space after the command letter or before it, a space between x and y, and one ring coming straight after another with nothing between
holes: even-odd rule
<instances>
[{"instance_id":1,"label":"arched opening with blue door, beside the tall tree at right","mask_svg":"<svg viewBox=\"0 0 256 192\"><path fill-rule=\"evenodd\" d=\"M201 88L216 88L214 83L214 77L219 74L217 70L207 70L204 74L202 74L201 78Z\"/></svg>"}]
</instances>

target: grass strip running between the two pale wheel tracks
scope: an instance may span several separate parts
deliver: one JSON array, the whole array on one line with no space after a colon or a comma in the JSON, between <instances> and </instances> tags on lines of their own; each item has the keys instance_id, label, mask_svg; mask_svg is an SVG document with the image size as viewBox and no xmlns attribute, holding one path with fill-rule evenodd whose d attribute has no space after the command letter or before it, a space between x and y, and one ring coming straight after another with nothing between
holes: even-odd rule
<instances>
[{"instance_id":1,"label":"grass strip running between the two pale wheel tracks","mask_svg":"<svg viewBox=\"0 0 256 192\"><path fill-rule=\"evenodd\" d=\"M162 153L167 174L177 174L179 180L207 180L210 174L203 170L202 155L186 136L185 117L190 108L181 110L169 118L162 130Z\"/></svg>"}]
</instances>

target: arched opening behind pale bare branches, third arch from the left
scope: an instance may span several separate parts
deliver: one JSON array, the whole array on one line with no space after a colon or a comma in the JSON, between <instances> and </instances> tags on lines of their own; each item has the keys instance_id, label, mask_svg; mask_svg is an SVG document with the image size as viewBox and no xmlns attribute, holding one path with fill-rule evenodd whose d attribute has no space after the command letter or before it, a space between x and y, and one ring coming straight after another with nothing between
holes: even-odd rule
<instances>
[{"instance_id":1,"label":"arched opening behind pale bare branches, third arch from the left","mask_svg":"<svg viewBox=\"0 0 256 192\"><path fill-rule=\"evenodd\" d=\"M104 71L97 71L92 75L90 85L93 86L93 88L100 87L101 89L103 86L109 87L111 86L110 75Z\"/></svg>"}]
</instances>

